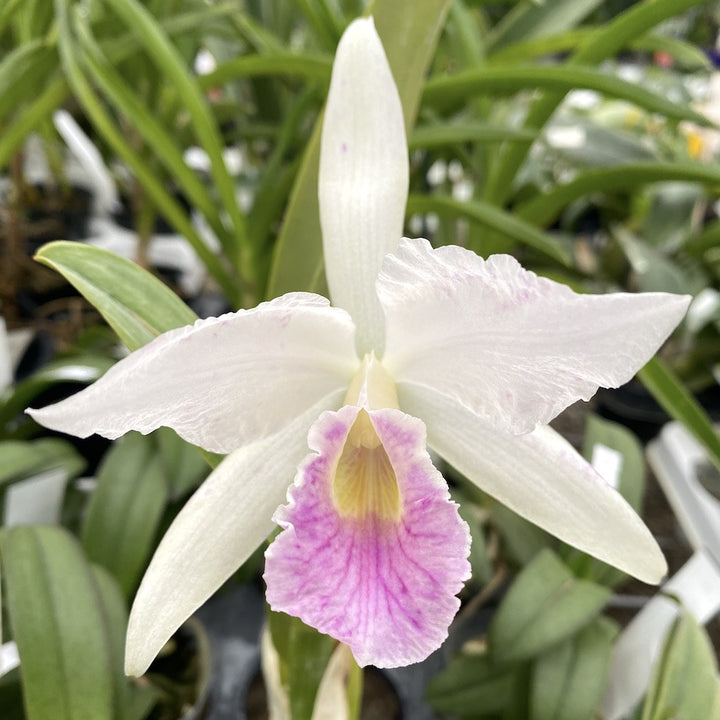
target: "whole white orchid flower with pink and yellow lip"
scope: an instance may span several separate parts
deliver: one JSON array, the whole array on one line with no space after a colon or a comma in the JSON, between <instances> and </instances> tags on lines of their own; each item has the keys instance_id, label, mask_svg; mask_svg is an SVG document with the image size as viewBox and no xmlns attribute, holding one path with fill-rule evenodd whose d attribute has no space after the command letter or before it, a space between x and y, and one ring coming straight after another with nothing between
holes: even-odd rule
<instances>
[{"instance_id":1,"label":"whole white orchid flower with pink and yellow lip","mask_svg":"<svg viewBox=\"0 0 720 720\"><path fill-rule=\"evenodd\" d=\"M547 423L628 381L688 298L578 295L509 256L401 240L407 144L372 19L338 46L319 177L333 306L290 293L199 320L29 411L82 437L165 425L230 453L140 585L130 674L266 539L273 517L273 609L347 643L362 665L409 664L439 647L469 575L469 535L426 446L581 550L648 582L665 573L639 517Z\"/></svg>"}]
</instances>

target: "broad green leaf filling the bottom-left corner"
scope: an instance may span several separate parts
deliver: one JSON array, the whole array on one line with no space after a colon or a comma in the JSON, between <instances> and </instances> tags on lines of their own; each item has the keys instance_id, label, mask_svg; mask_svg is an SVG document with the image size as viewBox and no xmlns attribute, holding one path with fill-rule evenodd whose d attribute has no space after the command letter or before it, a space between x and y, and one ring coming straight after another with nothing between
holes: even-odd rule
<instances>
[{"instance_id":1,"label":"broad green leaf filling the bottom-left corner","mask_svg":"<svg viewBox=\"0 0 720 720\"><path fill-rule=\"evenodd\" d=\"M27 720L112 720L110 647L79 545L61 528L20 526L0 549Z\"/></svg>"}]
</instances>

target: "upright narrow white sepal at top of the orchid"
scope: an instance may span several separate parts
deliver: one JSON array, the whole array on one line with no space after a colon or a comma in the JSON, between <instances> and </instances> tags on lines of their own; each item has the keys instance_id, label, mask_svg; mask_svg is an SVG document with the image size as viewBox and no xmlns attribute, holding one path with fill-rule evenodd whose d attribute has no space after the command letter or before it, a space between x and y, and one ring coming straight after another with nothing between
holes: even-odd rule
<instances>
[{"instance_id":1,"label":"upright narrow white sepal at top of the orchid","mask_svg":"<svg viewBox=\"0 0 720 720\"><path fill-rule=\"evenodd\" d=\"M358 328L358 350L382 351L375 278L402 236L408 157L402 106L372 18L337 48L323 122L319 200L333 304Z\"/></svg>"}]
</instances>

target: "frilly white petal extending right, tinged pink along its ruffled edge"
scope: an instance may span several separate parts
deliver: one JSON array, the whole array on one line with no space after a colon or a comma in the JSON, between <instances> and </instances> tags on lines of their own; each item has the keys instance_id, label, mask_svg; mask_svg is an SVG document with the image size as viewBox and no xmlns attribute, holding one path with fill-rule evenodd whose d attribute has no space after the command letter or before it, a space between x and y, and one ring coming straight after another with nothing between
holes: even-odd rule
<instances>
[{"instance_id":1,"label":"frilly white petal extending right, tinged pink along its ruffled edge","mask_svg":"<svg viewBox=\"0 0 720 720\"><path fill-rule=\"evenodd\" d=\"M508 255L403 240L378 278L399 382L434 388L514 433L546 424L652 357L690 298L667 293L578 295Z\"/></svg>"}]
</instances>

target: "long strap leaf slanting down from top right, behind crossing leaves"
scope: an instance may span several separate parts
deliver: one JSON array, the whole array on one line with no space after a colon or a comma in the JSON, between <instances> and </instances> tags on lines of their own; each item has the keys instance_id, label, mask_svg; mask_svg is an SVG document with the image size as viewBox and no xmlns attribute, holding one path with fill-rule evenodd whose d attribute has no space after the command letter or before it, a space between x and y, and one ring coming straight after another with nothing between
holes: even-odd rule
<instances>
[{"instance_id":1,"label":"long strap leaf slanting down from top right, behind crossing leaves","mask_svg":"<svg viewBox=\"0 0 720 720\"><path fill-rule=\"evenodd\" d=\"M645 0L619 15L613 22L584 44L568 61L575 65L595 65L613 56L625 47L632 38L644 35L663 20L679 15L709 0ZM542 128L555 108L565 97L564 91L544 93L530 107L525 120L526 128ZM492 168L485 190L486 199L500 204L512 189L513 178L530 150L530 143L513 143L503 152Z\"/></svg>"}]
</instances>

